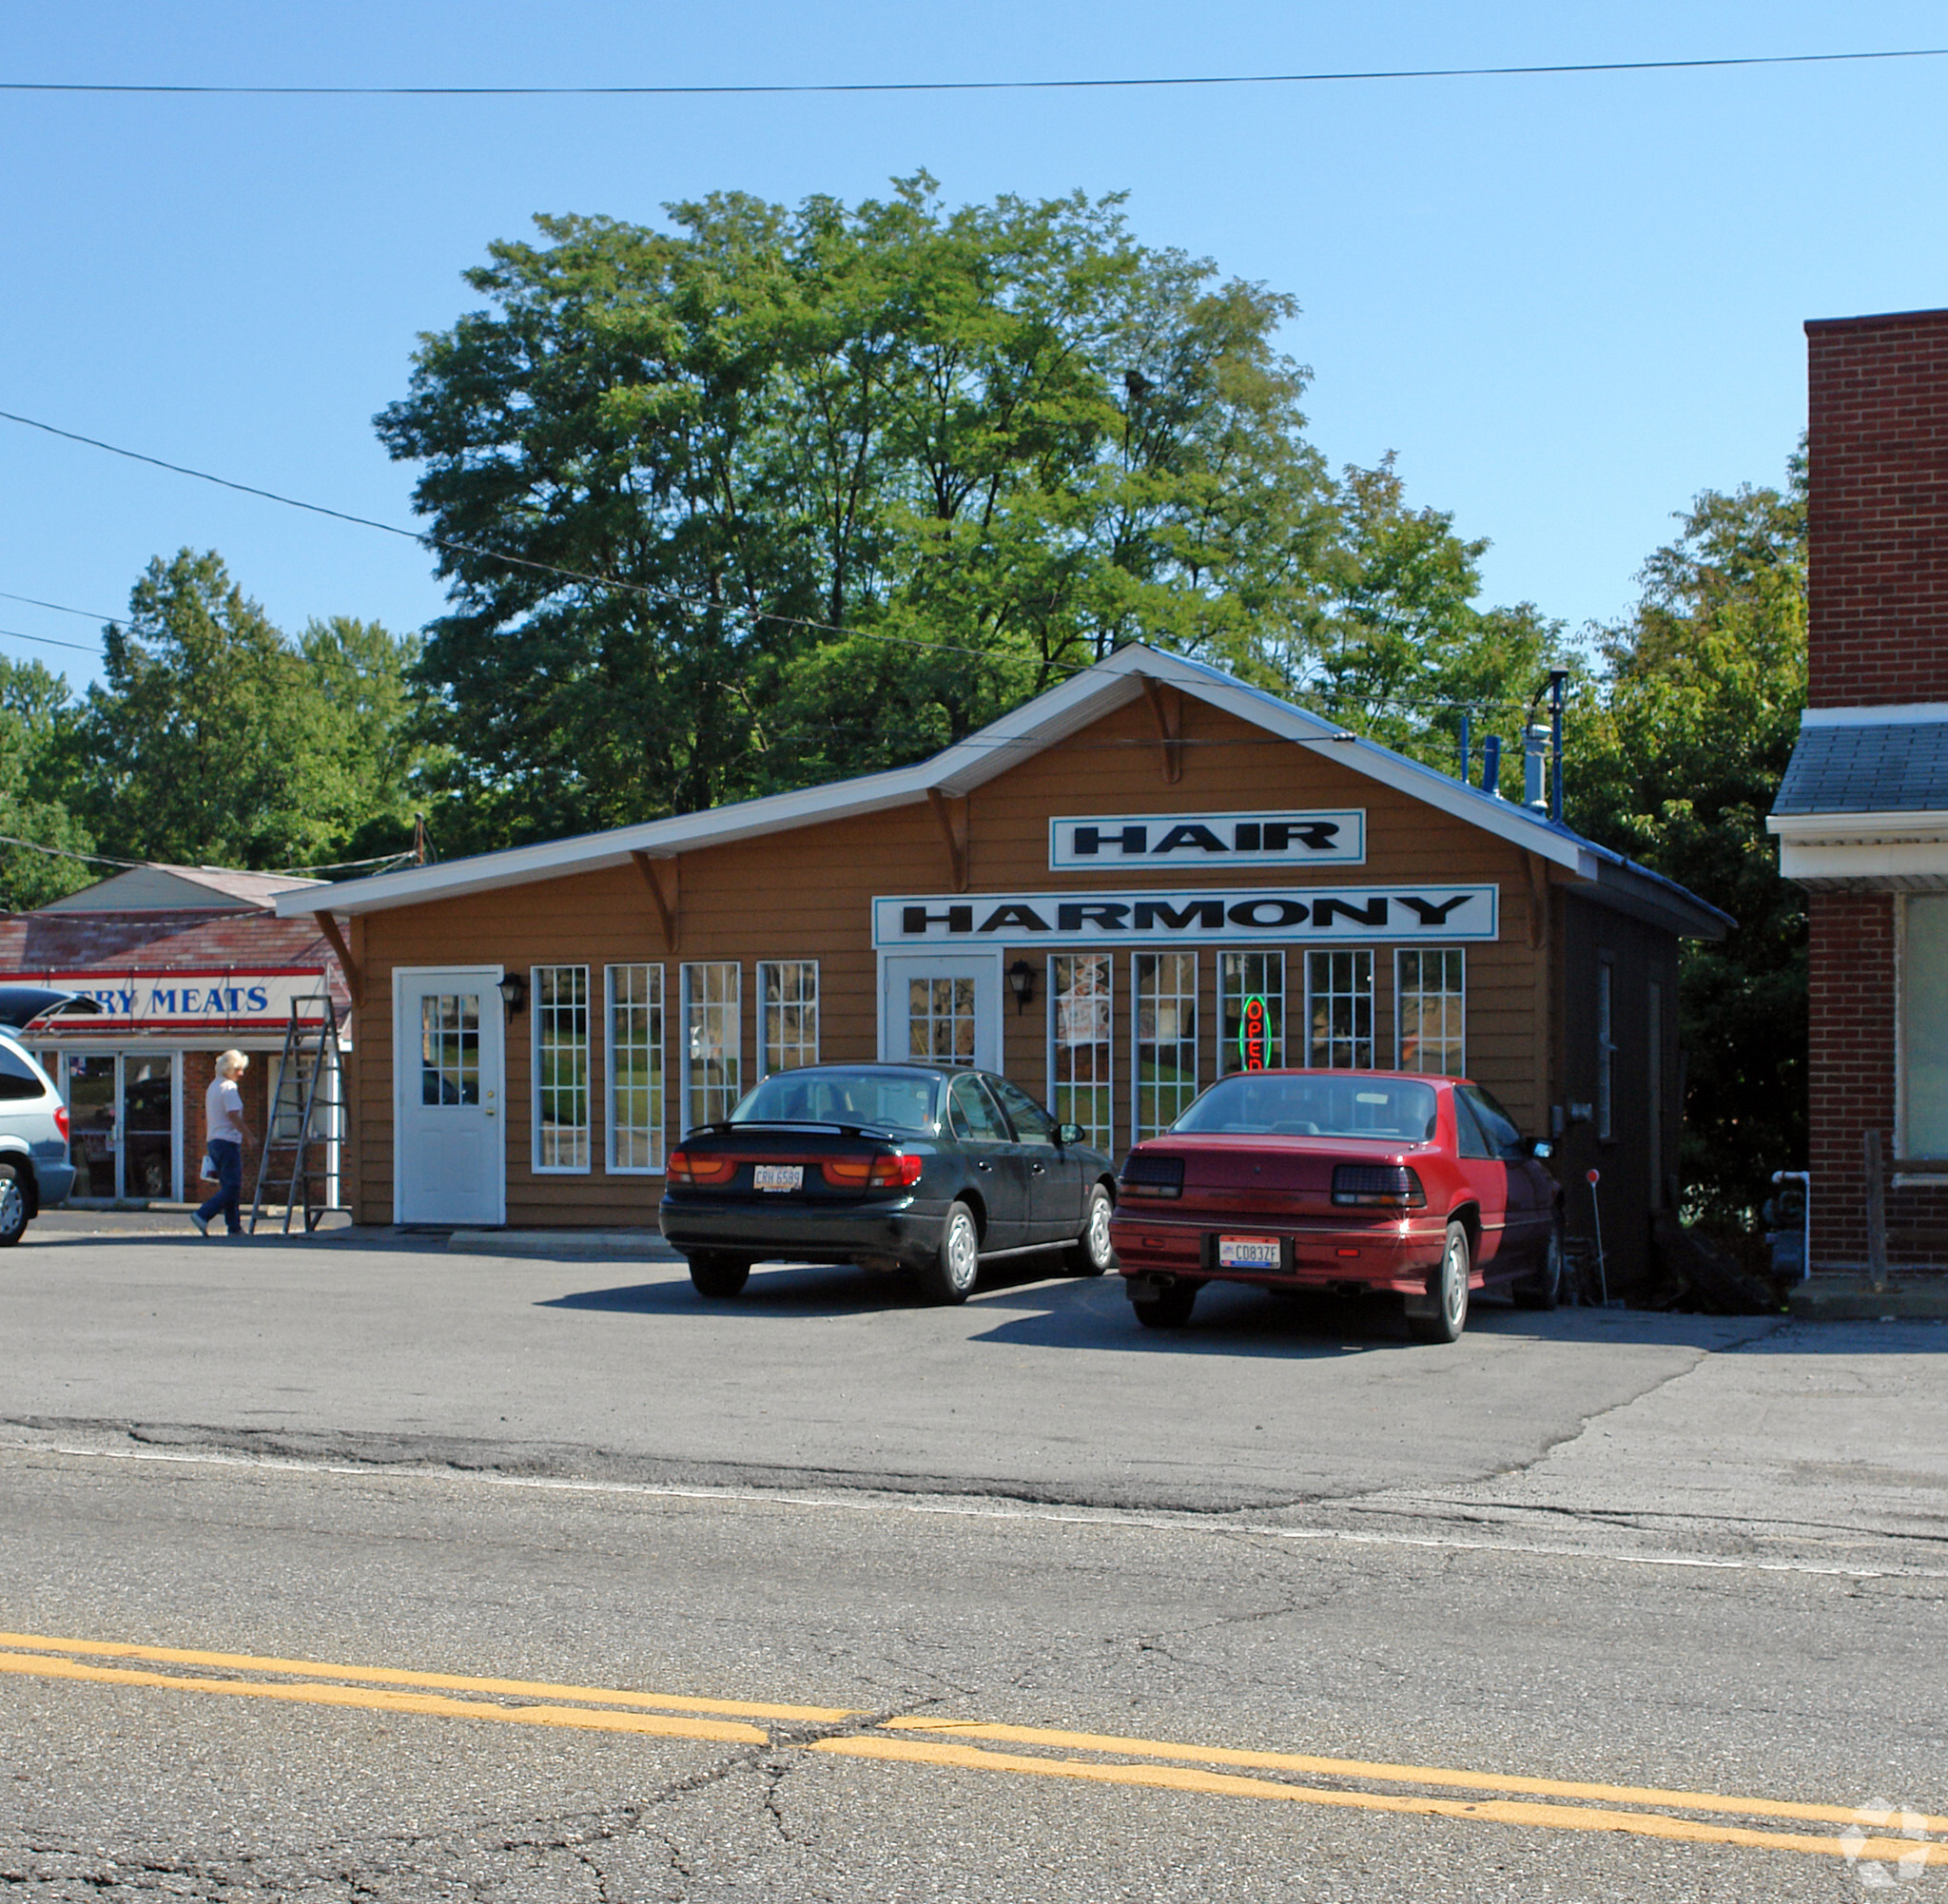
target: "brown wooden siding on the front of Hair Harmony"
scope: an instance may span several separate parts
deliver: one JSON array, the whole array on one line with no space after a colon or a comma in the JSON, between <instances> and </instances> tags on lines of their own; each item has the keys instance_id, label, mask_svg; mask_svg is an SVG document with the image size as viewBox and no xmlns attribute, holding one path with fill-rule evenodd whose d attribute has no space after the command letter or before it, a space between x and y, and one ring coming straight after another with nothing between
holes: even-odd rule
<instances>
[{"instance_id":1,"label":"brown wooden siding on the front of Hair Harmony","mask_svg":"<svg viewBox=\"0 0 1948 1904\"><path fill-rule=\"evenodd\" d=\"M1165 689L1165 693L1173 693ZM1017 767L949 800L964 824L970 892L1101 890L1118 886L1383 886L1496 884L1502 933L1467 946L1467 1061L1529 1129L1547 1121L1549 1012L1547 933L1531 946L1529 855L1490 833L1438 814L1406 794L1354 773L1330 746L1293 746L1235 720L1208 703L1182 703L1182 773L1163 771L1155 716L1132 703L1069 740L1030 753ZM1334 866L1309 880L1278 870L1192 870L1171 866L1143 880L1128 866L1110 876L1050 872L1048 820L1056 814L1272 812L1278 808L1366 810L1364 866ZM863 1059L879 1051L877 956L871 901L882 894L947 894L953 860L933 808L914 806L822 825L795 827L764 841L738 841L660 862L664 890L676 890L678 942L664 942L655 897L635 866L512 886L499 894L442 899L353 921L353 956L364 977L358 1049L353 1061L351 1166L356 1213L392 1221L392 975L397 968L493 964L526 973L536 964L586 964L592 1001L590 1133L586 1176L530 1170L532 1005L508 1024L506 1042L506 1221L510 1225L643 1225L655 1221L660 1178L604 1170L606 1071L602 1051L602 968L653 962L664 968L666 1104L680 1088L676 1061L678 968L697 960L736 960L742 968L742 1063L756 1079L756 962L818 962L820 1055ZM1342 944L1342 942L1334 942ZM1003 962L1027 954L1036 966L1036 1001L1017 1014L1001 999L1003 1069L1027 1088L1048 1088L1046 952L1011 942ZM1216 1051L1218 948L1200 946L1200 1067L1208 1082ZM1301 1030L1303 942L1288 954L1288 1040ZM1393 946L1375 950L1375 1061L1391 1065ZM1118 1143L1128 1125L1130 960L1116 956ZM1288 1044L1292 1061L1303 1061Z\"/></svg>"}]
</instances>

